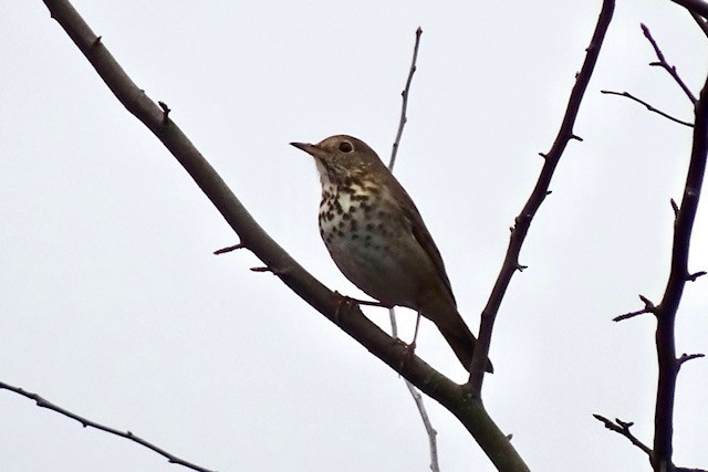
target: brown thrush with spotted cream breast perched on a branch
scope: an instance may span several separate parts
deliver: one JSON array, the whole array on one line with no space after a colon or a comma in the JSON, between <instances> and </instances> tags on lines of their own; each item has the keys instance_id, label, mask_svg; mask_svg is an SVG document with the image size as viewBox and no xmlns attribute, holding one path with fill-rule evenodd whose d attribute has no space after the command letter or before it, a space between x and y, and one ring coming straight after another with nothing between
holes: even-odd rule
<instances>
[{"instance_id":1,"label":"brown thrush with spotted cream breast perched on a branch","mask_svg":"<svg viewBox=\"0 0 708 472\"><path fill-rule=\"evenodd\" d=\"M440 251L398 180L352 136L291 145L314 157L320 234L337 268L383 305L413 308L435 323L469 370L477 339L457 311ZM486 370L492 371L489 360Z\"/></svg>"}]
</instances>

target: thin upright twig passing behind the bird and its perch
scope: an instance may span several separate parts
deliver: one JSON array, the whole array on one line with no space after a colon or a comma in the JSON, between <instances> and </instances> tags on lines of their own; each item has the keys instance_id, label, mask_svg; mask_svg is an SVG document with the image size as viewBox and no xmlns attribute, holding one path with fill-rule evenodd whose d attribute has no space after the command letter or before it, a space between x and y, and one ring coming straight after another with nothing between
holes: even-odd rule
<instances>
[{"instance_id":1,"label":"thin upright twig passing behind the bird and its perch","mask_svg":"<svg viewBox=\"0 0 708 472\"><path fill-rule=\"evenodd\" d=\"M400 138L403 137L403 129L408 122L408 117L406 116L406 112L408 109L408 94L410 93L410 84L413 83L413 74L415 74L417 70L417 61L418 61L418 48L420 46L420 35L423 34L423 30L418 28L416 30L416 42L413 46L413 60L410 61L410 69L408 71L408 78L406 80L406 86L400 93L403 97L403 104L400 105L400 120L398 122L398 132L396 133L396 139L394 140L394 146L391 151L391 160L388 161L388 170L394 171L394 165L396 164L396 155L398 154L398 146L400 145ZM391 335L395 338L398 337L398 323L396 322L396 311L392 307L388 308L388 318L391 319ZM430 418L428 417L428 412L425 408L425 403L423 402L423 396L416 390L415 386L408 381L408 379L404 378L406 387L413 397L413 401L416 403L416 408L418 408L418 413L420 415L420 419L423 420L423 426L425 427L425 431L428 436L428 445L430 449L430 470L433 472L440 471L440 463L438 461L438 444L437 444L437 434L438 432L433 427L430 422Z\"/></svg>"}]
</instances>

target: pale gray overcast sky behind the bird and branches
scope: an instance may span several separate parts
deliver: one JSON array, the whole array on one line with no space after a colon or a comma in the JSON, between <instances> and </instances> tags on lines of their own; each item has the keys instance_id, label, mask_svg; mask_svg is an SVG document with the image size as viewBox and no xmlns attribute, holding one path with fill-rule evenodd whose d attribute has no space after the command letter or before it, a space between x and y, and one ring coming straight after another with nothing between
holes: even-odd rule
<instances>
[{"instance_id":1,"label":"pale gray overcast sky behind the bird and branches","mask_svg":"<svg viewBox=\"0 0 708 472\"><path fill-rule=\"evenodd\" d=\"M558 132L600 1L75 1L105 45L266 230L332 290L311 159L289 141L346 133L387 158L415 29L424 30L396 175L442 252L473 332ZM248 252L153 135L110 93L40 1L2 2L0 380L220 471L426 471L403 381ZM11 20L11 21L10 21ZM620 2L575 133L498 318L485 402L532 470L646 470L592 418L652 442L655 323L691 106L658 70L645 22L697 94L706 38L669 1ZM690 269L708 268L704 196ZM688 284L678 353L708 352L708 296ZM366 313L386 326L387 313ZM402 336L413 335L400 310ZM416 352L465 378L424 322ZM707 466L708 364L680 373L675 460ZM444 471L491 470L428 400ZM3 471L175 471L129 441L0 391Z\"/></svg>"}]
</instances>

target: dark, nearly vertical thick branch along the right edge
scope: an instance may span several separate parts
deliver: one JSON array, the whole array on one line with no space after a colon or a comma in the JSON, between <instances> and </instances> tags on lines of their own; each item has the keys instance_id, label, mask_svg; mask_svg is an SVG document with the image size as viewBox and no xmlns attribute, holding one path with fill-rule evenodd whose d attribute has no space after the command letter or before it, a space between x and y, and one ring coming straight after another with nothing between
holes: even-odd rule
<instances>
[{"instance_id":1,"label":"dark, nearly vertical thick branch along the right edge","mask_svg":"<svg viewBox=\"0 0 708 472\"><path fill-rule=\"evenodd\" d=\"M684 197L674 223L671 269L662 303L656 306L656 354L659 366L654 416L654 470L671 471L674 395L680 363L676 359L674 327L676 312L684 294L688 272L690 238L698 210L698 201L706 172L708 154L708 77L696 103L694 144L684 187Z\"/></svg>"}]
</instances>

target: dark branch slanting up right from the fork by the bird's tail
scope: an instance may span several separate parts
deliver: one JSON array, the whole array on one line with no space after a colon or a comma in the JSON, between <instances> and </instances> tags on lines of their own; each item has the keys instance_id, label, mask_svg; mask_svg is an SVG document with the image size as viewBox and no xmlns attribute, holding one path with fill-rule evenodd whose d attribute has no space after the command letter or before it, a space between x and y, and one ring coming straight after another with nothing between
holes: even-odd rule
<instances>
[{"instance_id":1,"label":"dark branch slanting up right from the fork by the bird's tail","mask_svg":"<svg viewBox=\"0 0 708 472\"><path fill-rule=\"evenodd\" d=\"M607 32L607 28L610 28L614 8L614 0L604 0L602 3L597 25L595 27L595 32L590 41L590 45L587 46L587 53L583 66L575 78L575 85L573 86L573 91L571 92L571 96L568 102L563 123L561 124L561 128L555 137L555 141L553 143L551 150L544 155L545 161L541 169L539 180L537 181L529 200L521 210L521 213L519 213L516 219L516 224L511 230L511 240L509 241L504 262L502 263L501 271L499 272L497 282L491 291L487 306L485 306L485 310L482 311L479 339L475 346L475 356L472 358L472 368L468 382L468 388L470 388L476 398L481 398L485 366L489 355L489 345L491 343L492 329L497 313L499 312L499 306L501 305L501 301L509 287L511 277L517 270L522 268L521 264L519 264L519 254L521 252L521 245L529 232L531 220L549 193L551 178L553 177L555 167L565 150L565 146L571 139L580 140L580 138L573 134L573 125L575 123L577 112L580 111L583 95L585 94L585 90L587 88L587 84L590 83L590 78L592 77L595 69L597 56L600 55L600 49L605 39L605 33Z\"/></svg>"}]
</instances>

